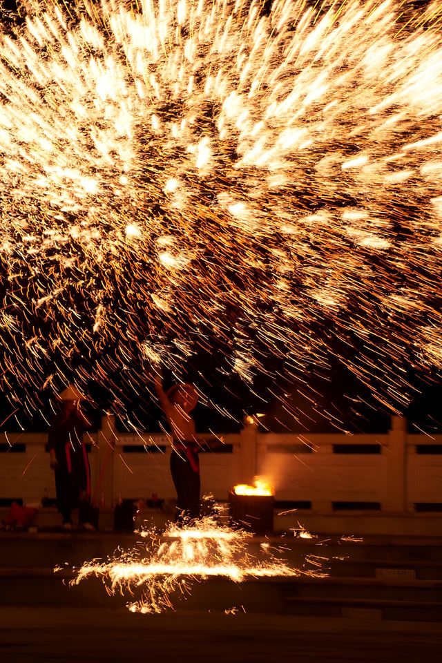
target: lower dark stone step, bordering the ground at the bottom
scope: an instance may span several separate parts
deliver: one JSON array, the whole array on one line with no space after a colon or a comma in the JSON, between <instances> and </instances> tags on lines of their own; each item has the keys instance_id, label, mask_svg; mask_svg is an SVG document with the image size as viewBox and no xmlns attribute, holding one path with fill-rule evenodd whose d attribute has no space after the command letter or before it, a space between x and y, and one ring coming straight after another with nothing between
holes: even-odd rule
<instances>
[{"instance_id":1,"label":"lower dark stone step, bordering the ground at the bottom","mask_svg":"<svg viewBox=\"0 0 442 663\"><path fill-rule=\"evenodd\" d=\"M47 567L2 568L0 605L116 608L131 600L130 595L122 597L118 592L109 596L102 579L94 577L70 587L68 582L73 577L68 568L60 573ZM139 591L134 590L135 597ZM372 578L303 576L247 579L234 583L214 577L193 582L184 599L172 596L173 604L180 610L227 610L242 606L247 612L442 621L442 582L430 580L392 582Z\"/></svg>"}]
</instances>

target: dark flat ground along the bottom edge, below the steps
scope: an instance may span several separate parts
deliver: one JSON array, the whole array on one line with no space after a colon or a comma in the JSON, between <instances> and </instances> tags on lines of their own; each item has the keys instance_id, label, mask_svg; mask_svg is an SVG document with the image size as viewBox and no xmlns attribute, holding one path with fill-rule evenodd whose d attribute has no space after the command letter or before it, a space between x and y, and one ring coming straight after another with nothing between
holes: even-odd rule
<instances>
[{"instance_id":1,"label":"dark flat ground along the bottom edge, below the steps","mask_svg":"<svg viewBox=\"0 0 442 663\"><path fill-rule=\"evenodd\" d=\"M440 663L441 624L0 607L2 663Z\"/></svg>"}]
</instances>

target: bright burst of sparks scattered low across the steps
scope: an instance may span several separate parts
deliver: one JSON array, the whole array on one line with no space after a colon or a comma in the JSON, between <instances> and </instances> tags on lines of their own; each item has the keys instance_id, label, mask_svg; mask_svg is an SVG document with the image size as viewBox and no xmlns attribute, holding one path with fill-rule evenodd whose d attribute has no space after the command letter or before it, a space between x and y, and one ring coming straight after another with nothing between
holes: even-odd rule
<instances>
[{"instance_id":1,"label":"bright burst of sparks scattered low across the steps","mask_svg":"<svg viewBox=\"0 0 442 663\"><path fill-rule=\"evenodd\" d=\"M103 579L109 593L129 593L141 596L128 604L131 611L160 613L172 608L173 593L189 593L191 582L222 576L233 582L247 578L325 577L317 561L307 559L316 570L291 568L269 551L268 544L260 546L258 555L251 555L247 546L251 534L218 525L204 518L194 526L177 528L172 525L159 539L153 532L141 532L151 539L150 546L137 547L100 563L84 564L73 580L78 584L90 576Z\"/></svg>"}]
</instances>

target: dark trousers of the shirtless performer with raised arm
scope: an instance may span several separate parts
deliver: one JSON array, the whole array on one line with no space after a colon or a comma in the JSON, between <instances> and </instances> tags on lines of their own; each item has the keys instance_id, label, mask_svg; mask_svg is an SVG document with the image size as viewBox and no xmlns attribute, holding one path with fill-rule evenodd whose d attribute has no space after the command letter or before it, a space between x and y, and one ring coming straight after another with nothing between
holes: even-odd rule
<instances>
[{"instance_id":1,"label":"dark trousers of the shirtless performer with raised arm","mask_svg":"<svg viewBox=\"0 0 442 663\"><path fill-rule=\"evenodd\" d=\"M195 448L180 445L172 450L171 474L177 491L175 520L200 517L200 459Z\"/></svg>"}]
</instances>

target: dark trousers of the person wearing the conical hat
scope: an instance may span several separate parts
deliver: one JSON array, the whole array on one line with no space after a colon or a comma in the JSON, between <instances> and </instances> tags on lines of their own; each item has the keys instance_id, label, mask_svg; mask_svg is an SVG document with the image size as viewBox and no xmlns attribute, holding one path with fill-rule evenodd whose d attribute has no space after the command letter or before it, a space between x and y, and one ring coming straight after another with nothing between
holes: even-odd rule
<instances>
[{"instance_id":1,"label":"dark trousers of the person wearing the conical hat","mask_svg":"<svg viewBox=\"0 0 442 663\"><path fill-rule=\"evenodd\" d=\"M90 465L84 444L70 444L56 450L55 490L63 523L72 522L72 510L79 508L79 522L90 520Z\"/></svg>"}]
</instances>

